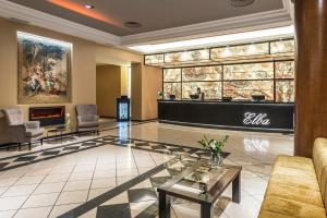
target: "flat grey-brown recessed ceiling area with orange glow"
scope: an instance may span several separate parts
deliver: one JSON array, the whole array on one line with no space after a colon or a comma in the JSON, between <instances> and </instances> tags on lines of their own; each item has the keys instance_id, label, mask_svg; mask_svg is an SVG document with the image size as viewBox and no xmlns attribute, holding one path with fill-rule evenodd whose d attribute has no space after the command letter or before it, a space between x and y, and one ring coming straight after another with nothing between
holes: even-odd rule
<instances>
[{"instance_id":1,"label":"flat grey-brown recessed ceiling area with orange glow","mask_svg":"<svg viewBox=\"0 0 327 218\"><path fill-rule=\"evenodd\" d=\"M233 8L229 0L9 0L117 36L179 27L283 8L282 0L256 0ZM85 5L94 5L86 9ZM125 22L142 26L129 28Z\"/></svg>"}]
</instances>

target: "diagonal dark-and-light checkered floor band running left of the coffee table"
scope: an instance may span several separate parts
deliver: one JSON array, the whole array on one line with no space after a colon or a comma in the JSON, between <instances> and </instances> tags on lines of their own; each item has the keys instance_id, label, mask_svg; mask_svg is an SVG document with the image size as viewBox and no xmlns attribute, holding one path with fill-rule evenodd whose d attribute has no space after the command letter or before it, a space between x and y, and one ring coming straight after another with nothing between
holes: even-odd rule
<instances>
[{"instance_id":1,"label":"diagonal dark-and-light checkered floor band running left of the coffee table","mask_svg":"<svg viewBox=\"0 0 327 218\"><path fill-rule=\"evenodd\" d=\"M228 154L225 154L227 156ZM157 187L166 183L168 180L177 177L187 167L196 164L199 158L194 158L189 155L177 157L168 161L164 169L156 173L146 177L142 182L131 185L131 187L123 190L112 198L109 198L102 204L99 204L96 208L85 213L81 217L96 217L96 218L157 218L158 217L158 201L157 201ZM99 199L100 202L101 196ZM225 204L229 199L222 197ZM180 215L179 209L174 209L175 206L181 206L184 201L172 198L171 217L183 217ZM87 205L87 203L86 203ZM73 209L62 216L74 217L82 214L82 205L80 208ZM76 213L76 214L75 214ZM216 211L219 214L219 211Z\"/></svg>"}]
</instances>

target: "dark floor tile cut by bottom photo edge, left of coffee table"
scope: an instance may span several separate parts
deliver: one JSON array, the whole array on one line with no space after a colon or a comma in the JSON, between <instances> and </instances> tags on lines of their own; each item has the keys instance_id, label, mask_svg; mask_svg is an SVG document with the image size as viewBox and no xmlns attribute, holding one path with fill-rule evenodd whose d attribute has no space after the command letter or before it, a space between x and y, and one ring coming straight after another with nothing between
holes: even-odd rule
<instances>
[{"instance_id":1,"label":"dark floor tile cut by bottom photo edge, left of coffee table","mask_svg":"<svg viewBox=\"0 0 327 218\"><path fill-rule=\"evenodd\" d=\"M99 206L96 218L132 218L130 204Z\"/></svg>"}]
</instances>

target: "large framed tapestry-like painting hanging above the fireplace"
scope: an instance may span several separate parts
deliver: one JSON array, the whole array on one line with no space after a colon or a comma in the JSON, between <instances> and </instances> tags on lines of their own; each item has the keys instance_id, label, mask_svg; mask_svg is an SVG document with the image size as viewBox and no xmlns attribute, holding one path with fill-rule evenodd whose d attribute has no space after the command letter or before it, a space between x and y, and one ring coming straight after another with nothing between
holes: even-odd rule
<instances>
[{"instance_id":1,"label":"large framed tapestry-like painting hanging above the fireplace","mask_svg":"<svg viewBox=\"0 0 327 218\"><path fill-rule=\"evenodd\" d=\"M71 101L72 45L17 32L19 104Z\"/></svg>"}]
</instances>

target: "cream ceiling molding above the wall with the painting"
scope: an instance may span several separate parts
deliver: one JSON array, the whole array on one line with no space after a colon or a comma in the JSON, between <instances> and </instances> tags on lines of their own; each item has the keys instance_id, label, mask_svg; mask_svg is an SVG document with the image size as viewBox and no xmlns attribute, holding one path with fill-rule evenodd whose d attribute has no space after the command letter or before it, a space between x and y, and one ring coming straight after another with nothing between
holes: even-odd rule
<instances>
[{"instance_id":1,"label":"cream ceiling molding above the wall with the painting","mask_svg":"<svg viewBox=\"0 0 327 218\"><path fill-rule=\"evenodd\" d=\"M19 19L31 25L76 36L98 44L119 46L121 37L101 32L75 22L71 22L51 14L47 14L17 3L0 0L0 16Z\"/></svg>"}]
</instances>

